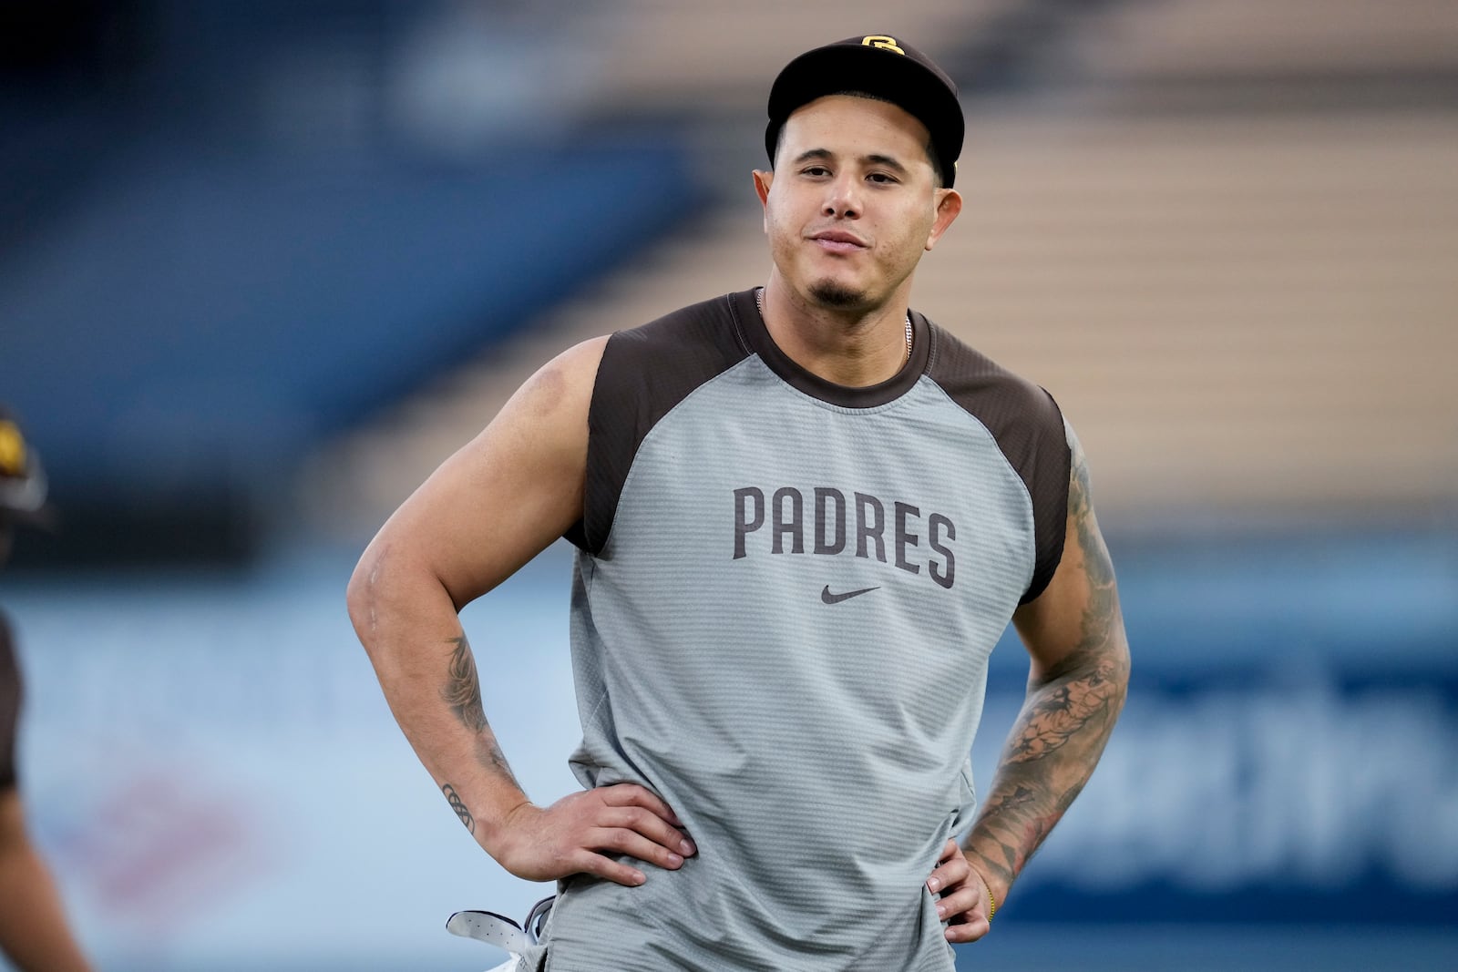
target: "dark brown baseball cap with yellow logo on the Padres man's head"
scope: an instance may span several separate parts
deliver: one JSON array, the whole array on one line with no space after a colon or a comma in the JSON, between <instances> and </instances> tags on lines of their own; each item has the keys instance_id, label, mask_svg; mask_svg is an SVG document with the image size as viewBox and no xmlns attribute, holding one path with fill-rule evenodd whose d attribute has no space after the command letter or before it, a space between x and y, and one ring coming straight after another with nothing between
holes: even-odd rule
<instances>
[{"instance_id":1,"label":"dark brown baseball cap with yellow logo on the Padres man's head","mask_svg":"<svg viewBox=\"0 0 1458 972\"><path fill-rule=\"evenodd\" d=\"M967 130L956 85L926 54L884 34L835 41L784 66L770 89L770 124L764 130L771 165L786 119L802 105L837 92L885 98L926 125L943 185L952 185Z\"/></svg>"}]
</instances>

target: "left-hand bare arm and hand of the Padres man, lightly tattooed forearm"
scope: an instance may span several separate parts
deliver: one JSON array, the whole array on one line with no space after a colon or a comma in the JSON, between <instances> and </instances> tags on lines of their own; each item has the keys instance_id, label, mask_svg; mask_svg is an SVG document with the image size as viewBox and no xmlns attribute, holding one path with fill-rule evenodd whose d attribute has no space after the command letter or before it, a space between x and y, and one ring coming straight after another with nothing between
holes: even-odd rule
<instances>
[{"instance_id":1,"label":"left-hand bare arm and hand of the Padres man, lightly tattooed forearm","mask_svg":"<svg viewBox=\"0 0 1458 972\"><path fill-rule=\"evenodd\" d=\"M644 874L615 854L679 867L693 853L674 812L633 784L531 803L487 723L458 618L582 514L602 344L542 367L405 500L354 568L348 608L395 720L488 854L529 880L586 871L636 885Z\"/></svg>"}]
</instances>

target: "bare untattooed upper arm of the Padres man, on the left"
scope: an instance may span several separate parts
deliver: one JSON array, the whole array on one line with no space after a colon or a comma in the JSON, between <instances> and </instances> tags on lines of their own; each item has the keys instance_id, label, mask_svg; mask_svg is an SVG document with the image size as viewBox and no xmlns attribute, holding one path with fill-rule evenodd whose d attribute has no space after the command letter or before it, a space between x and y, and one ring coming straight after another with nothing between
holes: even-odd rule
<instances>
[{"instance_id":1,"label":"bare untattooed upper arm of the Padres man, on the left","mask_svg":"<svg viewBox=\"0 0 1458 972\"><path fill-rule=\"evenodd\" d=\"M395 512L366 551L434 574L459 609L582 516L588 408L607 338L538 370Z\"/></svg>"}]
</instances>

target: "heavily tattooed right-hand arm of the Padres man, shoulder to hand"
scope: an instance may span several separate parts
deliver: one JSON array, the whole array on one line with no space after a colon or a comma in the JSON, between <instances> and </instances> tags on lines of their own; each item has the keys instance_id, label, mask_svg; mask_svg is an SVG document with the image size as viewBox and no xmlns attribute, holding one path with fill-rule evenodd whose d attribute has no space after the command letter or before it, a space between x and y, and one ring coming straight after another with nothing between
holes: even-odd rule
<instances>
[{"instance_id":1,"label":"heavily tattooed right-hand arm of the Padres man, shoulder to hand","mask_svg":"<svg viewBox=\"0 0 1458 972\"><path fill-rule=\"evenodd\" d=\"M1072 428L1067 437L1073 455L1063 560L1048 589L1013 615L1032 656L1028 697L965 847L949 842L933 871L948 889L940 904L952 941L987 933L989 893L1003 904L1088 783L1128 686L1114 565L1094 517L1083 449Z\"/></svg>"}]
</instances>

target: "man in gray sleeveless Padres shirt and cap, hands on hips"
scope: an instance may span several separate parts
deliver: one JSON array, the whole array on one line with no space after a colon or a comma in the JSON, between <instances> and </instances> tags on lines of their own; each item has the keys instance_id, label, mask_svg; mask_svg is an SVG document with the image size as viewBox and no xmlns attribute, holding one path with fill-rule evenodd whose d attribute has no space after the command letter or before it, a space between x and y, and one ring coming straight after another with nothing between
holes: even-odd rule
<instances>
[{"instance_id":1,"label":"man in gray sleeveless Padres shirt and cap, hands on hips","mask_svg":"<svg viewBox=\"0 0 1458 972\"><path fill-rule=\"evenodd\" d=\"M768 111L764 287L558 356L350 581L449 806L506 870L558 882L522 968L951 969L1123 705L1076 440L1045 392L908 310L961 210L955 86L851 38L792 61ZM456 612L558 536L586 788L538 807ZM1009 619L1028 701L972 820Z\"/></svg>"}]
</instances>

